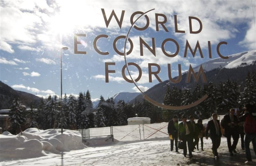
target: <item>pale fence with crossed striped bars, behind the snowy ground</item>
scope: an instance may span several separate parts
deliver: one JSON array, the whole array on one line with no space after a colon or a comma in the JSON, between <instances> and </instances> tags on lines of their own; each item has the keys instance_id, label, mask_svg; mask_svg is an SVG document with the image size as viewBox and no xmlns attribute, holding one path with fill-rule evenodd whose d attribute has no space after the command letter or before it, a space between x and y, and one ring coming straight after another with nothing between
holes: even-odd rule
<instances>
[{"instance_id":1,"label":"pale fence with crossed striped bars, behind the snowy ground","mask_svg":"<svg viewBox=\"0 0 256 166\"><path fill-rule=\"evenodd\" d=\"M111 126L104 128L90 128L79 130L83 140L112 136L117 141L137 141L168 137L168 123L136 124L125 126Z\"/></svg>"}]
</instances>

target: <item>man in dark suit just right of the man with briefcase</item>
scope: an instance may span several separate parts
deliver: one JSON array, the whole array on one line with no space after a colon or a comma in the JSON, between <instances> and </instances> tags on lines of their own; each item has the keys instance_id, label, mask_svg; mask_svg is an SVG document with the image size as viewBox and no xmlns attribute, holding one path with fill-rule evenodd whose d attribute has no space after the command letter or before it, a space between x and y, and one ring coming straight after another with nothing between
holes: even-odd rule
<instances>
[{"instance_id":1,"label":"man in dark suit just right of the man with briefcase","mask_svg":"<svg viewBox=\"0 0 256 166\"><path fill-rule=\"evenodd\" d=\"M195 118L193 115L190 115L189 119L190 120L187 122L187 124L189 126L189 131L190 131L190 135L191 135L191 137L190 137L191 142L192 142L191 149L192 149L192 151L194 151L195 146L197 145L196 140L198 138L197 125L194 122Z\"/></svg>"}]
</instances>

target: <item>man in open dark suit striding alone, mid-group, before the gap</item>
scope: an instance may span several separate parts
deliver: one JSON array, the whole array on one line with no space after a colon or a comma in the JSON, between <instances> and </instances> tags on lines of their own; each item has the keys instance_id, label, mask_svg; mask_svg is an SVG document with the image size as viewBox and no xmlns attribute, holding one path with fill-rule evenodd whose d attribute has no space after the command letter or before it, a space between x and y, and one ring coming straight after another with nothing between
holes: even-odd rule
<instances>
[{"instance_id":1,"label":"man in open dark suit striding alone, mid-group, before the gap","mask_svg":"<svg viewBox=\"0 0 256 166\"><path fill-rule=\"evenodd\" d=\"M211 142L213 144L213 147L211 150L213 150L213 154L216 158L218 158L218 147L221 145L221 125L219 124L219 120L217 120L218 115L216 113L213 113L212 115L213 119L208 121L205 137L208 139L210 136Z\"/></svg>"}]
</instances>

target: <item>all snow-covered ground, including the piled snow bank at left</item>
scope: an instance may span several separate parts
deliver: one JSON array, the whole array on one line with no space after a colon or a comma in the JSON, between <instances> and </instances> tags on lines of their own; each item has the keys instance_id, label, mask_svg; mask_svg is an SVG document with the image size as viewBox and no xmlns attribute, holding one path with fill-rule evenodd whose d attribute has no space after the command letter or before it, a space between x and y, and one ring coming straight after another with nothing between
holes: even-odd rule
<instances>
[{"instance_id":1,"label":"all snow-covered ground, including the piled snow bank at left","mask_svg":"<svg viewBox=\"0 0 256 166\"><path fill-rule=\"evenodd\" d=\"M222 117L222 116L221 116ZM206 124L208 120L204 120ZM82 144L81 135L77 131L48 129L27 129L16 136L8 132L0 134L1 166L173 166L173 165L244 165L245 151L241 149L241 141L237 146L237 154L229 156L226 138L222 138L218 149L219 160L211 153L211 140L204 138L204 150L195 150L193 158L184 158L179 153L170 151L170 140L165 138L145 141L117 141L107 137L87 140L90 146ZM107 141L106 141L107 140ZM87 142L87 143L88 143ZM199 142L199 149L201 148ZM253 161L256 156L252 150ZM63 151L63 152L61 152Z\"/></svg>"}]
</instances>

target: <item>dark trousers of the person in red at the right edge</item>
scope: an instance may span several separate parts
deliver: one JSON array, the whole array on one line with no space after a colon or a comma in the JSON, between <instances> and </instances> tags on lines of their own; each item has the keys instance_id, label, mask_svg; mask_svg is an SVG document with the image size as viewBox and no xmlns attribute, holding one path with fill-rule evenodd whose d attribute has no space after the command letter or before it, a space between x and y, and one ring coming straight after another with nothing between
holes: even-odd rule
<instances>
[{"instance_id":1,"label":"dark trousers of the person in red at the right edge","mask_svg":"<svg viewBox=\"0 0 256 166\"><path fill-rule=\"evenodd\" d=\"M250 142L253 143L253 150L256 155L256 134L245 134L245 154L247 161L251 160Z\"/></svg>"}]
</instances>

